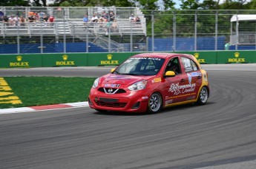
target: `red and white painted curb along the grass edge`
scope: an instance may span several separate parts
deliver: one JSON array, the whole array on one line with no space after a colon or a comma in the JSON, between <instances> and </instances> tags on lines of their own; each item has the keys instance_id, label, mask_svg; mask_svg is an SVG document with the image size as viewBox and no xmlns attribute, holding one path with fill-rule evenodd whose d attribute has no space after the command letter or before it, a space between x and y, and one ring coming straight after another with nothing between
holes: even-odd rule
<instances>
[{"instance_id":1,"label":"red and white painted curb along the grass edge","mask_svg":"<svg viewBox=\"0 0 256 169\"><path fill-rule=\"evenodd\" d=\"M0 114L12 114L12 113L22 113L28 111L44 111L44 110L54 110L61 108L75 108L75 107L88 107L88 102L78 102L78 103L63 103L56 105L45 105L45 106L30 106L22 108L4 108L0 109Z\"/></svg>"}]
</instances>

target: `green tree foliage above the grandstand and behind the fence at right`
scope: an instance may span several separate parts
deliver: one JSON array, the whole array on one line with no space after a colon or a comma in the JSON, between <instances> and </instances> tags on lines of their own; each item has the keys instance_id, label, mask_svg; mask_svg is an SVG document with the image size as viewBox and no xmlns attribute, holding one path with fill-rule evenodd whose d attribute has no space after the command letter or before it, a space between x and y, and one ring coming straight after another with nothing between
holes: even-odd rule
<instances>
[{"instance_id":1,"label":"green tree foliage above the grandstand and behind the fence at right","mask_svg":"<svg viewBox=\"0 0 256 169\"><path fill-rule=\"evenodd\" d=\"M181 0L180 7L175 6L174 0L53 0L53 4L47 4L47 0L5 0L0 1L0 6L15 7L15 6L33 6L33 7L140 7L145 14L148 33L151 33L154 26L154 33L169 36L173 33L173 27L176 24L177 34L182 35L184 32L189 32L193 35L195 24L194 13L198 13L197 31L202 31L211 34L214 32L215 16L213 12L217 10L256 10L256 0ZM175 9L175 7L177 9ZM200 15L200 10L209 10L209 15ZM181 11L181 12L180 12ZM192 12L191 12L192 11ZM195 12L196 11L196 12ZM180 13L180 15L179 15ZM182 13L182 14L181 14ZM154 14L154 20L152 20ZM176 23L173 23L175 17ZM203 18L203 21L200 21ZM220 18L223 18L221 20ZM225 25L227 19L225 15L218 18L221 25ZM152 23L154 23L152 25Z\"/></svg>"}]
</instances>

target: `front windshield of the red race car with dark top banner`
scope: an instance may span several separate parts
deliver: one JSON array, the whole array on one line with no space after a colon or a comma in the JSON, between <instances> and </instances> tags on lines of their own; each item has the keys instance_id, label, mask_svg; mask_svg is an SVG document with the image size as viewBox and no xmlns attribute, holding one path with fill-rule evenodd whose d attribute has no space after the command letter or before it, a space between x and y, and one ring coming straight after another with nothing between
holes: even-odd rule
<instances>
[{"instance_id":1,"label":"front windshield of the red race car with dark top banner","mask_svg":"<svg viewBox=\"0 0 256 169\"><path fill-rule=\"evenodd\" d=\"M119 75L157 75L164 61L163 58L128 58L116 68L114 73Z\"/></svg>"}]
</instances>

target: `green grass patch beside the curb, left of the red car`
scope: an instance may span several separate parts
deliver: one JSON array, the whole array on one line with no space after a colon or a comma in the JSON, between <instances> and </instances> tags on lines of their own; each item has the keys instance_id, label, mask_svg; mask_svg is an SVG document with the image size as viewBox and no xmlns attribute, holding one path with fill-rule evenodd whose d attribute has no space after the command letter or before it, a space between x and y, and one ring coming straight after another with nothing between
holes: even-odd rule
<instances>
[{"instance_id":1,"label":"green grass patch beside the curb, left of the red car","mask_svg":"<svg viewBox=\"0 0 256 169\"><path fill-rule=\"evenodd\" d=\"M11 91L0 90L0 108L84 102L88 100L95 79L96 77L4 77ZM6 103L7 97L13 96L19 97L22 103Z\"/></svg>"}]
</instances>

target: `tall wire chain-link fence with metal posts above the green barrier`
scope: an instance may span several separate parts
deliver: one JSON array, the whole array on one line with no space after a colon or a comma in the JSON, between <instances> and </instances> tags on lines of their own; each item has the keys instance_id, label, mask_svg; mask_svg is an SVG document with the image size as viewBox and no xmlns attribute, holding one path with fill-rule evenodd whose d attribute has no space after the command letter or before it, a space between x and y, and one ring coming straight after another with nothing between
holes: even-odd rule
<instances>
[{"instance_id":1,"label":"tall wire chain-link fence with metal posts above the green barrier","mask_svg":"<svg viewBox=\"0 0 256 169\"><path fill-rule=\"evenodd\" d=\"M0 14L0 54L256 49L256 10L0 7Z\"/></svg>"}]
</instances>

